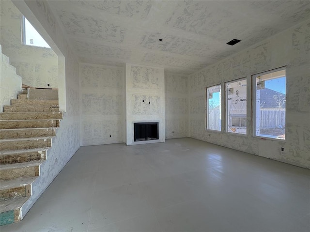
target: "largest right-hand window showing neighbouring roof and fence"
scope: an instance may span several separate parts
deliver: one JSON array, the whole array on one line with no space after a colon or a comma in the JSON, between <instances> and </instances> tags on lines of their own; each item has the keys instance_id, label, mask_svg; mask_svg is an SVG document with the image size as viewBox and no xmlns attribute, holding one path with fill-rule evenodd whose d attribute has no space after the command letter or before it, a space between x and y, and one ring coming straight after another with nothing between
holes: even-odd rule
<instances>
[{"instance_id":1,"label":"largest right-hand window showing neighbouring roof and fence","mask_svg":"<svg viewBox=\"0 0 310 232\"><path fill-rule=\"evenodd\" d=\"M253 76L254 136L285 139L285 68Z\"/></svg>"}]
</instances>

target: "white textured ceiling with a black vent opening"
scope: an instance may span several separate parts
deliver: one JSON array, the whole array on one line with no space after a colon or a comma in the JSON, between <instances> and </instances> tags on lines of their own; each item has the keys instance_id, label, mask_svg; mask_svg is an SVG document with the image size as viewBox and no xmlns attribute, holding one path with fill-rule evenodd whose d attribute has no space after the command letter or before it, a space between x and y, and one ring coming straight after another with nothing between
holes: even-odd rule
<instances>
[{"instance_id":1,"label":"white textured ceiling with a black vent opening","mask_svg":"<svg viewBox=\"0 0 310 232\"><path fill-rule=\"evenodd\" d=\"M48 3L81 62L145 64L185 74L310 18L309 0ZM226 45L234 38L242 41Z\"/></svg>"}]
</instances>

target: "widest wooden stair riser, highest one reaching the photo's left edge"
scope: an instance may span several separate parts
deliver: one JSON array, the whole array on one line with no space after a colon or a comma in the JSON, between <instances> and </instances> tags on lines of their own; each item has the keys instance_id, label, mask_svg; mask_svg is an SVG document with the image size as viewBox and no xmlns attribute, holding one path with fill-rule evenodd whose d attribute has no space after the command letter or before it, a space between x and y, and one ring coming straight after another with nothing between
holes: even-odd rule
<instances>
[{"instance_id":1,"label":"widest wooden stair riser, highest one reaching the photo's left edge","mask_svg":"<svg viewBox=\"0 0 310 232\"><path fill-rule=\"evenodd\" d=\"M1 120L62 119L62 112L0 113Z\"/></svg>"}]
</instances>

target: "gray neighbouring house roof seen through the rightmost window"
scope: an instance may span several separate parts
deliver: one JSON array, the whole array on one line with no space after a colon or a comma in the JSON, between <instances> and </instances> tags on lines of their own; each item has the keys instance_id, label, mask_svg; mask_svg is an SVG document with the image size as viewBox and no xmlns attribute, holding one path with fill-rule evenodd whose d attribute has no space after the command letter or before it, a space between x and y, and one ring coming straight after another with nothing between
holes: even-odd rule
<instances>
[{"instance_id":1,"label":"gray neighbouring house roof seen through the rightmost window","mask_svg":"<svg viewBox=\"0 0 310 232\"><path fill-rule=\"evenodd\" d=\"M264 88L260 90L261 108L285 108L285 94Z\"/></svg>"}]
</instances>

